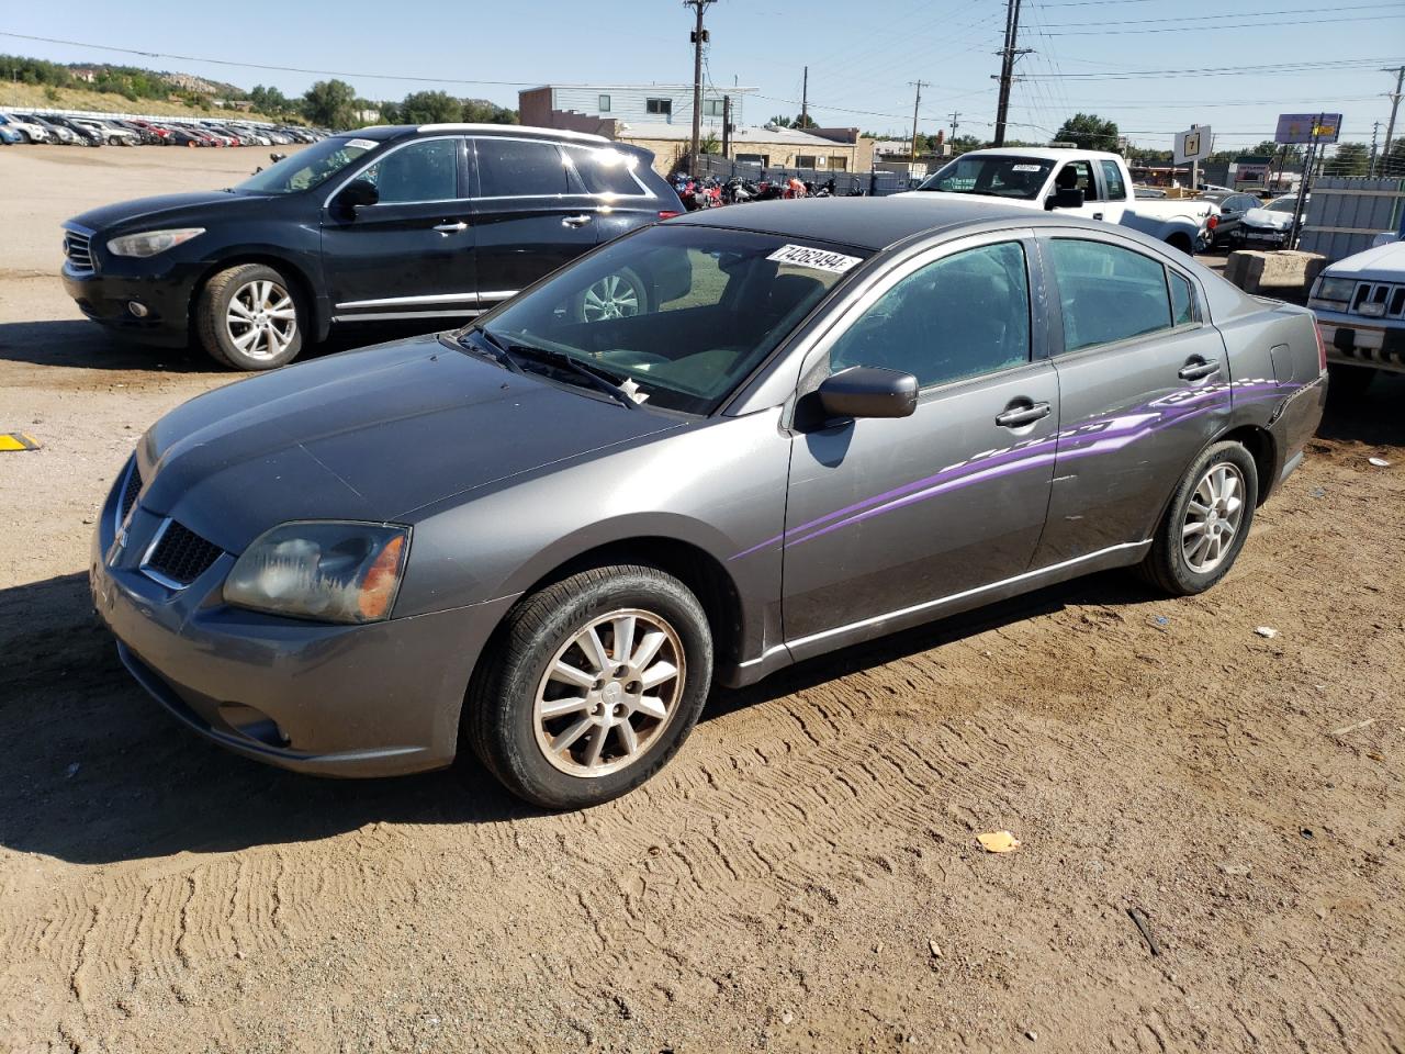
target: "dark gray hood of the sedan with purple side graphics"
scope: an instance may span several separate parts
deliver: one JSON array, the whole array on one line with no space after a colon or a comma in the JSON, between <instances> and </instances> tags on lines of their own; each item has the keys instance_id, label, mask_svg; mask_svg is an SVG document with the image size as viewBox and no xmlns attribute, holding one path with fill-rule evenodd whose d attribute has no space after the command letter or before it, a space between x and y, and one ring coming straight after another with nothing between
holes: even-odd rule
<instances>
[{"instance_id":1,"label":"dark gray hood of the sedan with purple side graphics","mask_svg":"<svg viewBox=\"0 0 1405 1054\"><path fill-rule=\"evenodd\" d=\"M142 437L140 500L242 552L278 523L413 521L426 505L679 427L431 334L191 399Z\"/></svg>"}]
</instances>

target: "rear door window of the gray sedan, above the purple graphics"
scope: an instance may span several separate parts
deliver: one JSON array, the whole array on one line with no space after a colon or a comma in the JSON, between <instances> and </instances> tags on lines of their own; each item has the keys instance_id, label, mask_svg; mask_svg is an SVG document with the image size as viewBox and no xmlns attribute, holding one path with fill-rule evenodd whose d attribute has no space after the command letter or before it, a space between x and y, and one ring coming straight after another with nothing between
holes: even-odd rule
<instances>
[{"instance_id":1,"label":"rear door window of the gray sedan, above the purple graphics","mask_svg":"<svg viewBox=\"0 0 1405 1054\"><path fill-rule=\"evenodd\" d=\"M1170 329L1166 268L1141 253L1072 238L1048 243L1064 315L1064 350Z\"/></svg>"}]
</instances>

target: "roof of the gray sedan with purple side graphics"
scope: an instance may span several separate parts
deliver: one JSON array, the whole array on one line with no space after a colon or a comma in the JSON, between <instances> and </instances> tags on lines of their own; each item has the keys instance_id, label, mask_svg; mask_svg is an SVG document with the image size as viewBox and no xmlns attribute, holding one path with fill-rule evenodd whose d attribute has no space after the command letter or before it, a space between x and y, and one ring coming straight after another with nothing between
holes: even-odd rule
<instances>
[{"instance_id":1,"label":"roof of the gray sedan with purple side graphics","mask_svg":"<svg viewBox=\"0 0 1405 1054\"><path fill-rule=\"evenodd\" d=\"M756 201L731 208L688 212L667 221L667 225L697 223L878 250L905 242L913 235L999 221L1023 228L1082 226L1103 233L1116 230L1128 240L1139 240L1135 232L1066 212L1048 215L1016 205L967 201L947 194Z\"/></svg>"}]
</instances>

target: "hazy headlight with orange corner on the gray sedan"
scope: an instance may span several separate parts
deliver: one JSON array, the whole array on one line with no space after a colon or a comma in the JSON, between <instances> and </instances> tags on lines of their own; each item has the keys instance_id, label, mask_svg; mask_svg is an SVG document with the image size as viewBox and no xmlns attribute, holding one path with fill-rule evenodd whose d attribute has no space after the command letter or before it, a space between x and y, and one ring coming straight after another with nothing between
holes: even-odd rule
<instances>
[{"instance_id":1,"label":"hazy headlight with orange corner on the gray sedan","mask_svg":"<svg viewBox=\"0 0 1405 1054\"><path fill-rule=\"evenodd\" d=\"M235 561L225 603L319 623L389 618L409 541L407 527L386 524L280 524Z\"/></svg>"}]
</instances>

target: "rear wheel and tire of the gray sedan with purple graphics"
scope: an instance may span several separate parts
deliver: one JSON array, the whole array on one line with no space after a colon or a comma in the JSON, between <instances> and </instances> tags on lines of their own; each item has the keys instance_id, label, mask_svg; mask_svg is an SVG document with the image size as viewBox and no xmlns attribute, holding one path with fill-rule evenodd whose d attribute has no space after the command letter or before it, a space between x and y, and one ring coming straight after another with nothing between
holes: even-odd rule
<instances>
[{"instance_id":1,"label":"rear wheel and tire of the gray sedan with purple graphics","mask_svg":"<svg viewBox=\"0 0 1405 1054\"><path fill-rule=\"evenodd\" d=\"M1207 490L1213 476L1236 482L1232 488ZM1222 497L1225 492L1228 497ZM1234 566L1253 526L1257 502L1259 471L1249 451L1232 441L1213 444L1196 458L1176 488L1151 551L1141 562L1142 578L1172 596L1204 593ZM1201 524L1200 528L1191 530L1193 523ZM1208 541L1203 541L1205 535ZM1204 551L1197 559L1191 549L1201 547Z\"/></svg>"}]
</instances>

